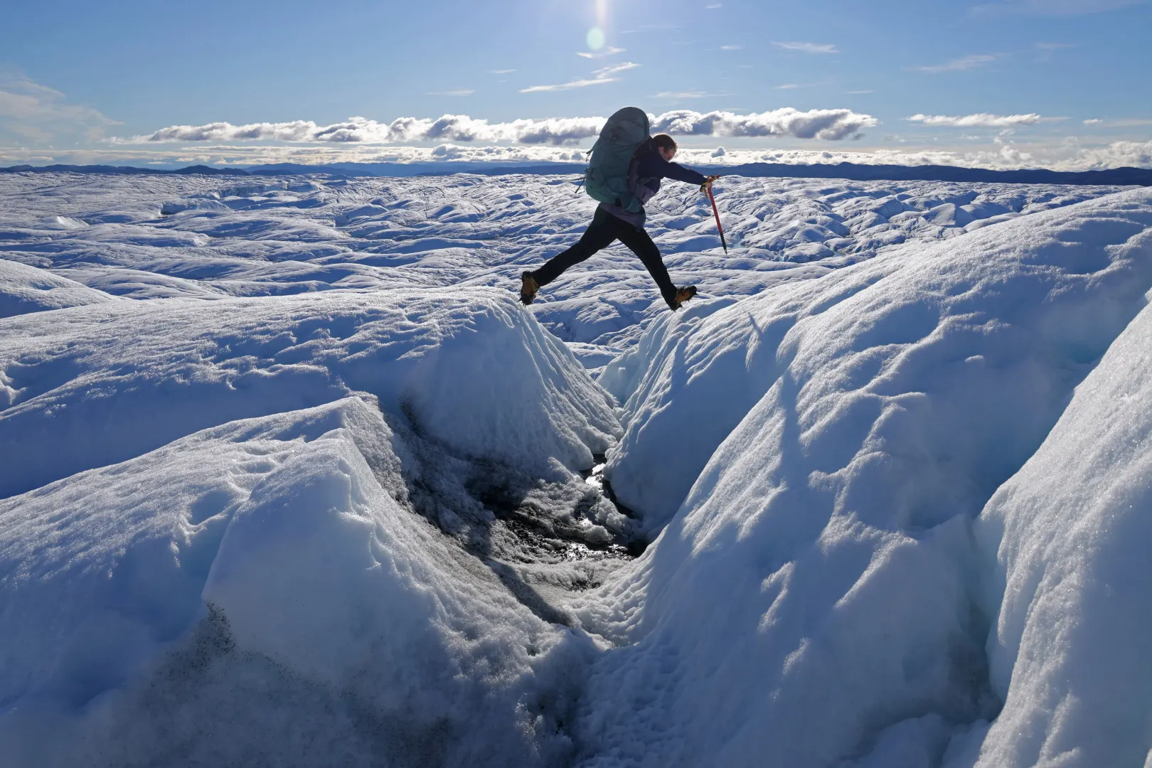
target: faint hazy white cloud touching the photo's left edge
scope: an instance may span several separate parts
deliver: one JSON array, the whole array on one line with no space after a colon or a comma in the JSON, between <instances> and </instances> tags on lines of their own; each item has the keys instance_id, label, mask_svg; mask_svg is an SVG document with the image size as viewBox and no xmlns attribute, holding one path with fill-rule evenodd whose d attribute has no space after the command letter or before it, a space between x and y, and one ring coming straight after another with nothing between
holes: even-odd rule
<instances>
[{"instance_id":1,"label":"faint hazy white cloud touching the photo's left edge","mask_svg":"<svg viewBox=\"0 0 1152 768\"><path fill-rule=\"evenodd\" d=\"M23 74L0 71L0 136L24 142L76 135L97 139L107 128L119 124L97 109L69 104L60 91Z\"/></svg>"}]
</instances>

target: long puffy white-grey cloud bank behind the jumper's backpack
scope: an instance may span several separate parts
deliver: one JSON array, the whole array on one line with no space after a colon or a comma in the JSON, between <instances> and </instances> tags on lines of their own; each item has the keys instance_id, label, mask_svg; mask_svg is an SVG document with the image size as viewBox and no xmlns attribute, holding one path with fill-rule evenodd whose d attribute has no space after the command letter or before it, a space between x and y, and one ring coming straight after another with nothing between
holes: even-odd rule
<instances>
[{"instance_id":1,"label":"long puffy white-grey cloud bank behind the jumper's backpack","mask_svg":"<svg viewBox=\"0 0 1152 768\"><path fill-rule=\"evenodd\" d=\"M738 115L730 112L680 109L652 116L653 134L680 136L779 136L839 140L852 137L877 124L871 115L851 109L809 109L791 107ZM435 120L399 117L381 123L367 117L349 117L331 126L295 120L282 123L228 122L204 126L169 126L144 136L113 139L115 144L170 142L313 142L351 144L402 144L418 142L513 142L515 144L563 145L597 136L605 117L547 117L490 123L468 115L444 115Z\"/></svg>"}]
</instances>

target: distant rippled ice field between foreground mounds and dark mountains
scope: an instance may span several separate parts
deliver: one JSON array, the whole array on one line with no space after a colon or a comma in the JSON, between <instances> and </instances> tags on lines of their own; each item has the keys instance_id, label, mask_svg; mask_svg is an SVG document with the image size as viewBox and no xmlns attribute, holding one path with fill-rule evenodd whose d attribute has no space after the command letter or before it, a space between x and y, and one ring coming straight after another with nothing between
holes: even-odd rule
<instances>
[{"instance_id":1,"label":"distant rippled ice field between foreground mounds and dark mountains","mask_svg":"<svg viewBox=\"0 0 1152 768\"><path fill-rule=\"evenodd\" d=\"M0 253L130 298L271 296L333 288L506 286L574 243L596 203L575 177L235 180L7 174ZM723 178L711 207L667 182L649 231L674 281L749 296L904 242L1116 191L1107 187ZM952 212L952 213L949 213ZM593 371L666 306L616 244L548 286L532 312Z\"/></svg>"}]
</instances>

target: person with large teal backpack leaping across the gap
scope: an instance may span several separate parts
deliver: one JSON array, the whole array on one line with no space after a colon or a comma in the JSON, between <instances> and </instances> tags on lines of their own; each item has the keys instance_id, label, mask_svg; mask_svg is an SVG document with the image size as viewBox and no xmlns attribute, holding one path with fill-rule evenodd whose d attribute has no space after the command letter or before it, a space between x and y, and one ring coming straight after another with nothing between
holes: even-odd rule
<instances>
[{"instance_id":1,"label":"person with large teal backpack leaping across the gap","mask_svg":"<svg viewBox=\"0 0 1152 768\"><path fill-rule=\"evenodd\" d=\"M539 269L521 275L520 301L525 305L532 303L541 287L566 269L617 239L647 267L669 309L679 310L681 304L696 296L696 286L677 289L668 277L660 250L644 231L644 204L660 191L661 178L699 184L703 191L719 176L705 176L673 162L676 157L675 139L667 134L647 136L647 126L644 112L626 107L613 115L600 131L585 174L585 189L600 200L600 205L592 223L575 245L552 257ZM638 145L636 139L641 139Z\"/></svg>"}]
</instances>

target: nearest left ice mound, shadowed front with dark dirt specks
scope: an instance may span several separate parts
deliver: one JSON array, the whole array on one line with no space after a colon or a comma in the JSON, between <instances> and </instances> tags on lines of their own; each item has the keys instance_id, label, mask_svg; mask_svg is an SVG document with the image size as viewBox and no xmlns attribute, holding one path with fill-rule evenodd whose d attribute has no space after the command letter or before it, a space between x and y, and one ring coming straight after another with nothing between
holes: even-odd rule
<instances>
[{"instance_id":1,"label":"nearest left ice mound, shadowed front with dark dirt specks","mask_svg":"<svg viewBox=\"0 0 1152 768\"><path fill-rule=\"evenodd\" d=\"M0 502L6 765L564 758L525 679L582 644L401 508L393 447L349 397Z\"/></svg>"}]
</instances>

